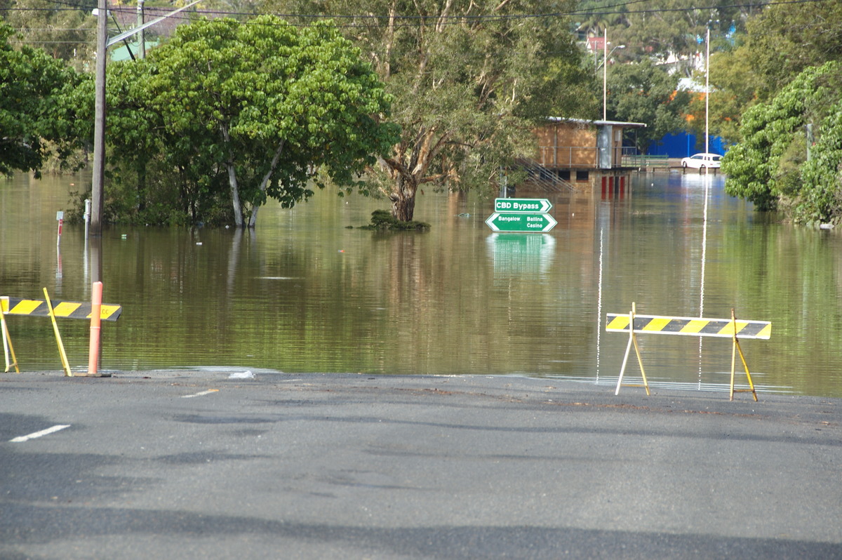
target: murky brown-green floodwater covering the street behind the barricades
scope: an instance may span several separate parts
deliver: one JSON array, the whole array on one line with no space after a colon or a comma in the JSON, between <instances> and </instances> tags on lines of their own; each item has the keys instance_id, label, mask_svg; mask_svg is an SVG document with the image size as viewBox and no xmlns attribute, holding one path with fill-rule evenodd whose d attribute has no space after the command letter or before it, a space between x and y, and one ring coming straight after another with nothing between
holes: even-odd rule
<instances>
[{"instance_id":1,"label":"murky brown-green floodwater covering the street behind the barricades","mask_svg":"<svg viewBox=\"0 0 842 560\"><path fill-rule=\"evenodd\" d=\"M89 301L96 255L56 211L83 176L0 179L0 295ZM620 195L551 200L546 234L493 233L493 200L426 192L426 233L364 225L384 200L320 191L260 212L254 232L108 227L101 239L103 371L474 374L613 386L628 336L605 314L770 321L742 340L759 392L842 397L842 237L771 221L728 197L721 176L639 175ZM94 264L95 265L95 264ZM23 371L56 371L51 322L8 316ZM59 320L74 371L85 321ZM730 339L637 337L650 384L727 390ZM634 352L626 381L639 378ZM737 381L744 387L737 357ZM13 374L6 374L13 375ZM606 387L606 391L612 390ZM642 389L628 387L623 392ZM749 398L749 396L742 396Z\"/></svg>"}]
</instances>

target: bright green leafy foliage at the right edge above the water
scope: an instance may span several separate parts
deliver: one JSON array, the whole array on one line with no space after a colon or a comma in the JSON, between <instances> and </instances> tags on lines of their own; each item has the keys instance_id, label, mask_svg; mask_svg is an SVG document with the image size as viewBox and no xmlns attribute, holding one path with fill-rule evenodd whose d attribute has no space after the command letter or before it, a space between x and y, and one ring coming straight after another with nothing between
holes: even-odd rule
<instances>
[{"instance_id":1,"label":"bright green leafy foliage at the right edge above the water","mask_svg":"<svg viewBox=\"0 0 842 560\"><path fill-rule=\"evenodd\" d=\"M842 63L807 68L769 103L743 116L743 141L722 160L729 195L759 210L783 203L799 222L839 220L842 162ZM806 161L807 124L818 141Z\"/></svg>"}]
</instances>

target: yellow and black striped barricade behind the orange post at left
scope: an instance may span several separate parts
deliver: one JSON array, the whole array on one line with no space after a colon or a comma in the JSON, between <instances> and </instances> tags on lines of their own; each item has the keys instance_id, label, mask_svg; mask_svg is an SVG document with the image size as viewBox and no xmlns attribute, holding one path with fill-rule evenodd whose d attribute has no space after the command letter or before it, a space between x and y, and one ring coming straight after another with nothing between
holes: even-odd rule
<instances>
[{"instance_id":1,"label":"yellow and black striped barricade behind the orange post at left","mask_svg":"<svg viewBox=\"0 0 842 560\"><path fill-rule=\"evenodd\" d=\"M0 297L0 336L3 338L3 354L6 358L6 371L9 367L14 365L15 371L18 370L18 360L14 356L14 349L12 347L12 340L8 336L8 327L6 325L6 315L29 315L30 317L50 317L53 323L53 330L56 333L56 344L58 344L59 354L61 355L61 365L64 366L65 375L72 376L70 372L70 365L67 362L67 355L64 351L64 345L61 344L61 334L58 332L58 325L56 325L56 317L66 319L90 319L93 305L91 302L80 301L51 301L44 289L43 300L32 300L21 297ZM99 317L103 321L116 321L120 317L123 308L119 305L104 303L99 312ZM11 360L9 355L11 354Z\"/></svg>"}]
</instances>

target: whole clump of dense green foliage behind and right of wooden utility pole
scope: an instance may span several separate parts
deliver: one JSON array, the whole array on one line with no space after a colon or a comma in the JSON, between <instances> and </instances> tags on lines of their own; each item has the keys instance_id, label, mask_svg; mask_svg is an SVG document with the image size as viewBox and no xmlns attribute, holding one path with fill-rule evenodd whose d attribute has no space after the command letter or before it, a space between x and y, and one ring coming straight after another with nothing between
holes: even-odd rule
<instances>
[{"instance_id":1,"label":"whole clump of dense green foliage behind and right of wooden utility pole","mask_svg":"<svg viewBox=\"0 0 842 560\"><path fill-rule=\"evenodd\" d=\"M106 221L253 227L269 198L291 207L326 180L365 189L397 141L376 73L329 23L183 25L145 60L109 64L106 84ZM72 95L91 138L93 80Z\"/></svg>"}]
</instances>

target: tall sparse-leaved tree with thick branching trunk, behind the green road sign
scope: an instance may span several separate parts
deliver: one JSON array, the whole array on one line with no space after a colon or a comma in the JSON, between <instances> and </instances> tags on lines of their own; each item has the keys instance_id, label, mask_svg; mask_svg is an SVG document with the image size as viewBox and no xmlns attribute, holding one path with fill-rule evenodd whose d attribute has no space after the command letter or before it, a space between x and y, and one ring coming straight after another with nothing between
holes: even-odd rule
<instances>
[{"instance_id":1,"label":"tall sparse-leaved tree with thick branching trunk, behind the green road sign","mask_svg":"<svg viewBox=\"0 0 842 560\"><path fill-rule=\"evenodd\" d=\"M377 185L401 221L413 219L424 185L497 189L500 168L535 152L538 122L575 114L578 100L592 97L584 93L592 73L558 15L572 1L276 0L267 8L343 16L376 67L402 128L392 155L380 158Z\"/></svg>"}]
</instances>

